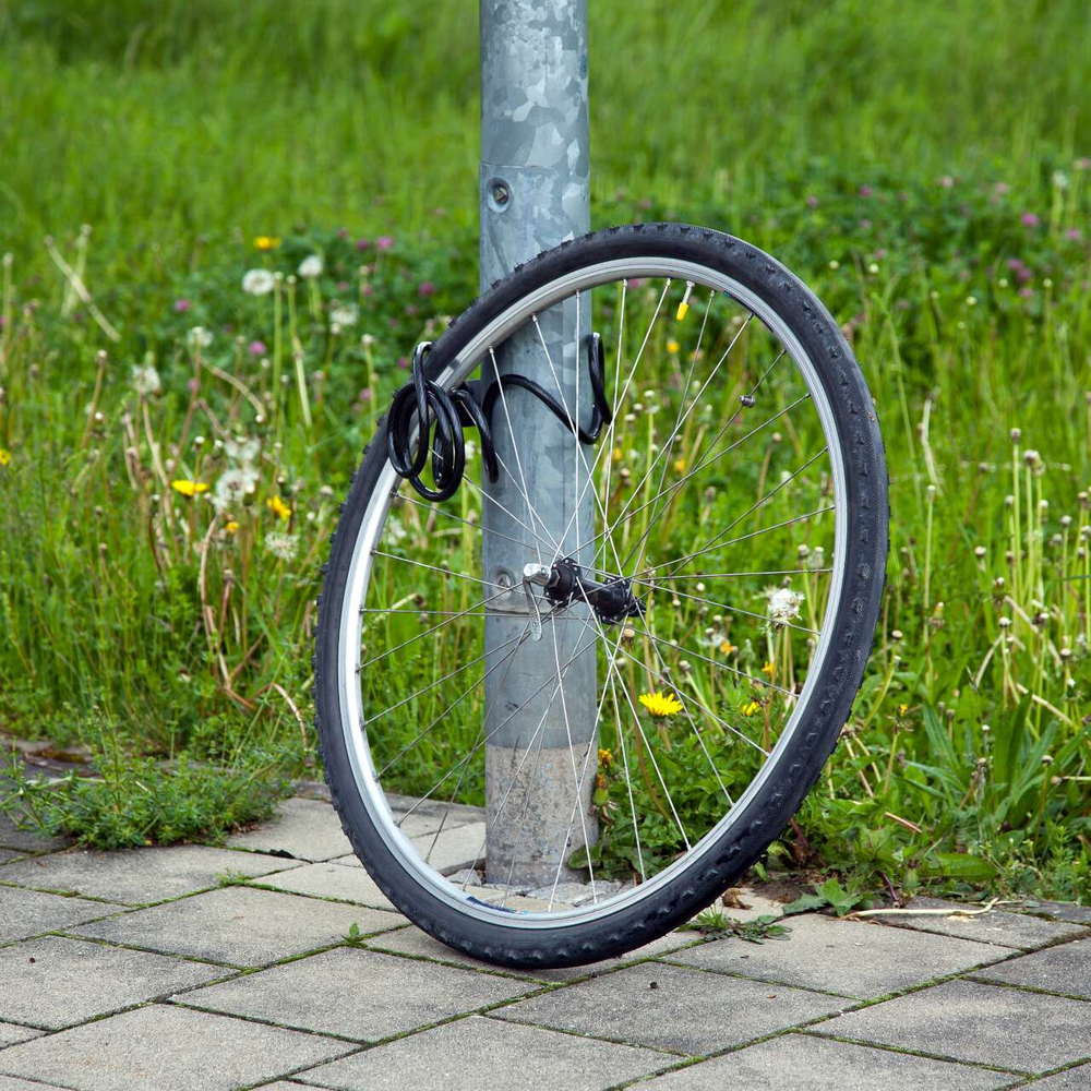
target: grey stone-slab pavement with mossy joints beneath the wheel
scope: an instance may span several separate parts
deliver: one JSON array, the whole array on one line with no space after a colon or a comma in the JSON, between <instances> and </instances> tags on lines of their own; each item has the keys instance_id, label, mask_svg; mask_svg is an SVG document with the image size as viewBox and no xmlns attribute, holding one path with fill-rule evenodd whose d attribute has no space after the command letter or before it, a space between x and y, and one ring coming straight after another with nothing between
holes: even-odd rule
<instances>
[{"instance_id":1,"label":"grey stone-slab pavement with mossy joints beneath the wheel","mask_svg":"<svg viewBox=\"0 0 1091 1091\"><path fill-rule=\"evenodd\" d=\"M407 832L448 873L481 851L471 808ZM910 908L942 912L520 972L411 925L320 800L220 849L0 822L0 1091L1091 1091L1091 911Z\"/></svg>"}]
</instances>

